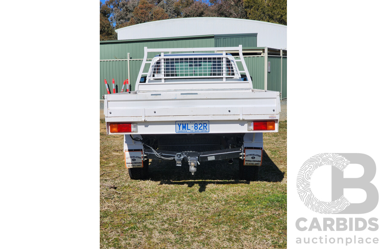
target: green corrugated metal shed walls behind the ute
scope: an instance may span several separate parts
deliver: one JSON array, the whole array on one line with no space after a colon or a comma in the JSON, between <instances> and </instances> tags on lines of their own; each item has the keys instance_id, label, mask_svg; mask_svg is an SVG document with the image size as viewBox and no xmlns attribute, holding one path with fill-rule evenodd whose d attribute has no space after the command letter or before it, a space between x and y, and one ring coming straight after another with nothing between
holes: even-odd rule
<instances>
[{"instance_id":1,"label":"green corrugated metal shed walls behind the ute","mask_svg":"<svg viewBox=\"0 0 387 249\"><path fill-rule=\"evenodd\" d=\"M229 47L242 44L243 47L255 47L257 36L253 34L241 34L240 37L234 36L200 36L200 37L180 37L168 39L137 40L137 41L114 41L100 42L100 95L106 94L104 79L108 82L111 92L112 78L118 85L118 91L121 91L123 81L128 78L128 61L127 53L130 53L130 83L132 90L135 89L135 81L140 70L142 58L144 57L144 47L149 48L169 48L169 47ZM158 53L148 55L148 58L154 57ZM237 57L239 59L239 57ZM268 56L271 61L271 72L268 73L268 90L280 91L280 57ZM114 60L114 61L106 61ZM265 58L264 56L245 57L245 62L250 75L253 78L253 88L265 88ZM240 62L237 62L238 67L242 70ZM149 69L149 64L146 64L145 71ZM286 98L286 57L283 57L283 87L282 98Z\"/></svg>"}]
</instances>

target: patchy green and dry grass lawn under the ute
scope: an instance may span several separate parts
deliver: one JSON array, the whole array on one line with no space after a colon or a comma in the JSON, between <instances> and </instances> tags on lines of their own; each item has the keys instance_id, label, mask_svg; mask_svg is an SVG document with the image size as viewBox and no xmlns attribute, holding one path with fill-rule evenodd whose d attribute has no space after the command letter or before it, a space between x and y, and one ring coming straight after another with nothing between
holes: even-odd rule
<instances>
[{"instance_id":1,"label":"patchy green and dry grass lawn under the ute","mask_svg":"<svg viewBox=\"0 0 387 249\"><path fill-rule=\"evenodd\" d=\"M101 248L286 248L286 121L264 133L258 181L238 181L238 161L153 160L149 179L131 180L123 135L100 119Z\"/></svg>"}]
</instances>

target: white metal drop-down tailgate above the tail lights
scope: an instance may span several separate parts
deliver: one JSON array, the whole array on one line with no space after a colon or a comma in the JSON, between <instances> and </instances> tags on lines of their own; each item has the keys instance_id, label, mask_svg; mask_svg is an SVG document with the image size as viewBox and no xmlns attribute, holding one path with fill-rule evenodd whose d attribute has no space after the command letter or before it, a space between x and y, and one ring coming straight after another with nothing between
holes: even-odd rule
<instances>
[{"instance_id":1,"label":"white metal drop-down tailgate above the tail lights","mask_svg":"<svg viewBox=\"0 0 387 249\"><path fill-rule=\"evenodd\" d=\"M128 121L246 120L280 112L279 92L127 93L105 95L106 118ZM199 119L197 119L199 118ZM121 119L120 119L121 120Z\"/></svg>"}]
</instances>

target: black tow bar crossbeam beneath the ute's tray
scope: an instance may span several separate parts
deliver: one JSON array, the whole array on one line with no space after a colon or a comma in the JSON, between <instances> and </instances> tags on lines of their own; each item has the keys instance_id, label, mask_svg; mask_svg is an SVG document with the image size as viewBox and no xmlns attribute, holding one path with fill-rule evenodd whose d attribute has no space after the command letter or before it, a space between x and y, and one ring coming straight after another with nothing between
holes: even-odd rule
<instances>
[{"instance_id":1,"label":"black tow bar crossbeam beneath the ute's tray","mask_svg":"<svg viewBox=\"0 0 387 249\"><path fill-rule=\"evenodd\" d=\"M234 149L222 149L219 151L204 151L204 152L176 152L176 151L161 151L156 150L156 152L163 156L164 158L176 158L178 154L181 154L181 157L185 162L189 162L189 158L197 158L199 162L206 161L216 161L223 159L231 158L240 158L242 155L242 147L237 147ZM144 154L146 154L148 159L159 159L156 156L156 153L150 148L144 148Z\"/></svg>"}]
</instances>

